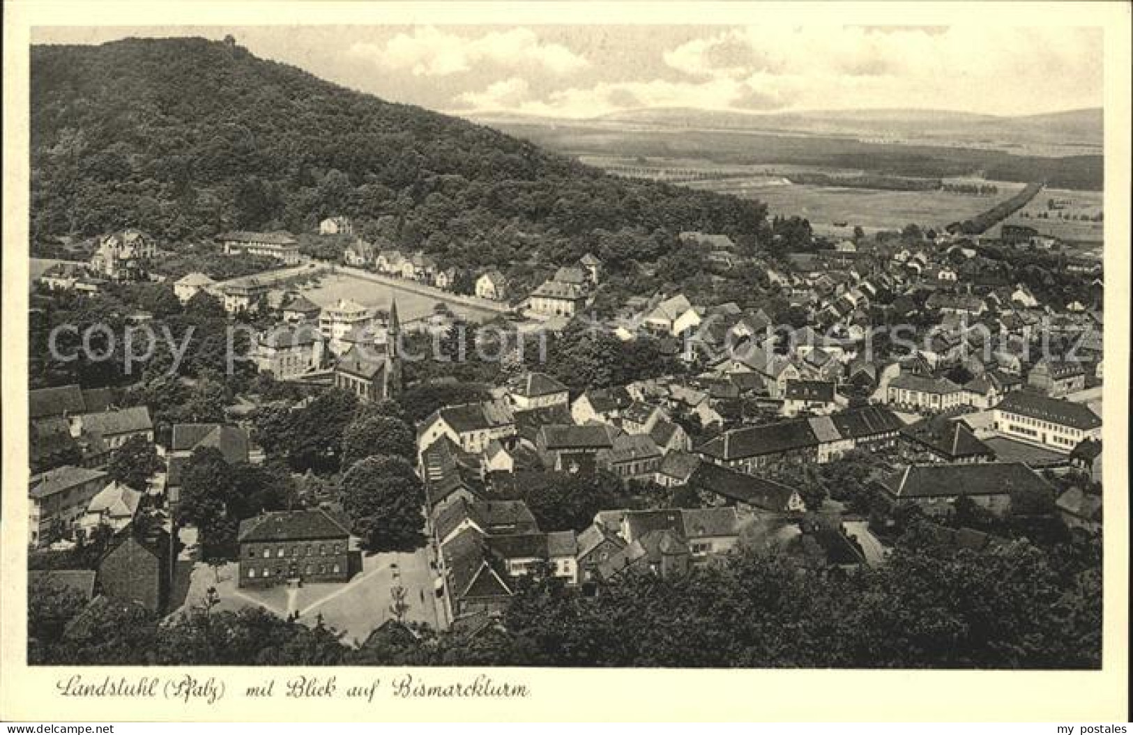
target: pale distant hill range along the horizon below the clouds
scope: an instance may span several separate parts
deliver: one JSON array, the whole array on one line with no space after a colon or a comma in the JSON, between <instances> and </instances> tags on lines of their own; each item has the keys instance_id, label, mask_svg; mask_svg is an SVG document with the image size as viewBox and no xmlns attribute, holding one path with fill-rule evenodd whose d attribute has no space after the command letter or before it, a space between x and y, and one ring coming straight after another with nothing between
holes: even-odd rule
<instances>
[{"instance_id":1,"label":"pale distant hill range along the horizon below the clouds","mask_svg":"<svg viewBox=\"0 0 1133 735\"><path fill-rule=\"evenodd\" d=\"M623 110L585 120L538 118L509 112L484 112L469 117L486 123L746 130L993 147L1039 154L1042 148L1057 149L1059 154L1098 153L1102 146L1100 108L1020 117L951 110L813 110L756 113L688 108Z\"/></svg>"}]
</instances>

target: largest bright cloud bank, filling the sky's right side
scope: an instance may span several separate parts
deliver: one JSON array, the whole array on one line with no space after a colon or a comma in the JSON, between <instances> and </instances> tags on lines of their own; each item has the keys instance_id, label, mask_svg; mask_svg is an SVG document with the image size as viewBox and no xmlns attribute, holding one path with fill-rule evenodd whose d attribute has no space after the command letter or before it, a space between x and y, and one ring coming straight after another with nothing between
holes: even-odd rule
<instances>
[{"instance_id":1,"label":"largest bright cloud bank, filling the sky's right side","mask_svg":"<svg viewBox=\"0 0 1133 735\"><path fill-rule=\"evenodd\" d=\"M989 112L1101 101L1091 28L759 26L695 39L665 63L699 80L743 79L793 109L936 108Z\"/></svg>"}]
</instances>

